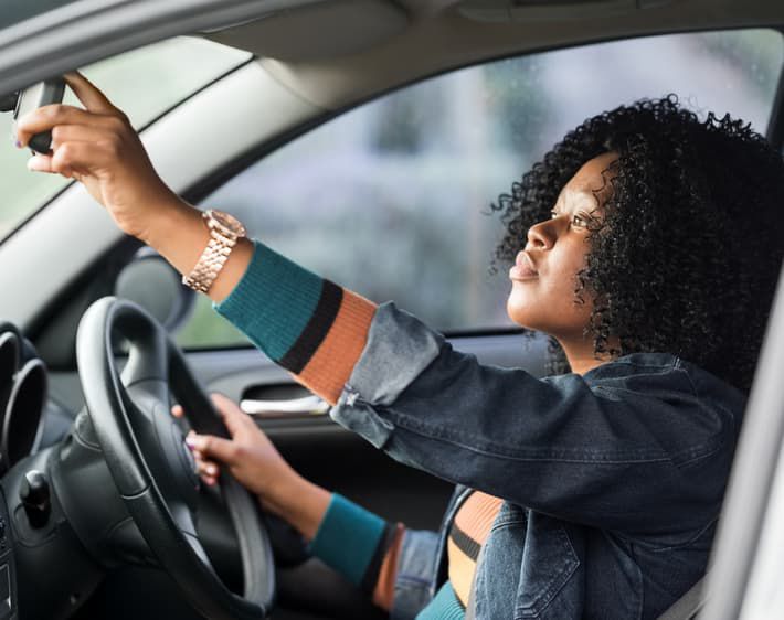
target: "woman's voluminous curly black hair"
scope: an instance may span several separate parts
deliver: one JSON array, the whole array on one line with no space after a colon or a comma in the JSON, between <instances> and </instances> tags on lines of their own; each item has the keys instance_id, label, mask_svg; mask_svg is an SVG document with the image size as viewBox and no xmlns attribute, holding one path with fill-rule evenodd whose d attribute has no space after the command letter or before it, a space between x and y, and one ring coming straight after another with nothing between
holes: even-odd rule
<instances>
[{"instance_id":1,"label":"woman's voluminous curly black hair","mask_svg":"<svg viewBox=\"0 0 784 620\"><path fill-rule=\"evenodd\" d=\"M701 121L675 95L589 118L491 205L506 225L496 261L607 151L612 191L575 289L594 303L596 354L668 352L748 391L784 255L784 161L749 124Z\"/></svg>"}]
</instances>

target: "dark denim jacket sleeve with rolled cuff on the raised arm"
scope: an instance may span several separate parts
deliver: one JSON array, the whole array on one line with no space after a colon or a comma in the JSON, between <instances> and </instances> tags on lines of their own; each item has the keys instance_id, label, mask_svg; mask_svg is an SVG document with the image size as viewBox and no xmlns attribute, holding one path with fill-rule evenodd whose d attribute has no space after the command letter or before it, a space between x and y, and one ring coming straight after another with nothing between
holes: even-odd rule
<instances>
[{"instance_id":1,"label":"dark denim jacket sleeve with rolled cuff on the raised arm","mask_svg":"<svg viewBox=\"0 0 784 620\"><path fill-rule=\"evenodd\" d=\"M708 373L671 355L631 357L538 380L384 304L330 415L401 462L518 505L637 536L671 534L678 515L686 532L719 509L741 400L722 405Z\"/></svg>"}]
</instances>

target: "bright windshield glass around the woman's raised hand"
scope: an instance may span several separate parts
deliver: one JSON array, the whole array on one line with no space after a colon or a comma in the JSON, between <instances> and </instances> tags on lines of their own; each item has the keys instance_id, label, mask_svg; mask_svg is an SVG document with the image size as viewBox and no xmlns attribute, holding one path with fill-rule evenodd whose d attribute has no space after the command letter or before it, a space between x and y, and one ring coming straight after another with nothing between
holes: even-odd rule
<instances>
[{"instance_id":1,"label":"bright windshield glass around the woman's raised hand","mask_svg":"<svg viewBox=\"0 0 784 620\"><path fill-rule=\"evenodd\" d=\"M251 57L247 52L203 39L178 36L100 61L81 70L130 118L145 127L205 84ZM65 104L80 105L66 90ZM10 141L11 114L0 115L0 136ZM43 206L71 181L27 171L30 151L0 149L0 239Z\"/></svg>"}]
</instances>

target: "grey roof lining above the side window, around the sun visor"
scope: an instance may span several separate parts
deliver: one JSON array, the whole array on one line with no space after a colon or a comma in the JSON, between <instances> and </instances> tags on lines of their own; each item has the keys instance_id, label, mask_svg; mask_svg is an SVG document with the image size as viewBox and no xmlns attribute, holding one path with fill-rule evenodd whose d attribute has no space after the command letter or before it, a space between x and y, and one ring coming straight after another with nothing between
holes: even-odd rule
<instances>
[{"instance_id":1,"label":"grey roof lining above the side window, around the sun visor","mask_svg":"<svg viewBox=\"0 0 784 620\"><path fill-rule=\"evenodd\" d=\"M352 103L460 66L522 53L691 30L784 24L778 0L675 0L593 18L483 23L466 18L455 0L398 0L407 26L361 53L278 60L258 54L264 67L301 98L326 109ZM563 7L561 6L560 9ZM231 36L223 40L232 44Z\"/></svg>"}]
</instances>

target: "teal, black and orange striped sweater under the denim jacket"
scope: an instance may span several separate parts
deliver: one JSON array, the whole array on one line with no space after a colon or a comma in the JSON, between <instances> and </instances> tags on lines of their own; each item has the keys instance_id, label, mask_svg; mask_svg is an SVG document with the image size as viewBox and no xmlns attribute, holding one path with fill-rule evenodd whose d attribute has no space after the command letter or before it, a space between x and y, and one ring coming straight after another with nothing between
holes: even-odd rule
<instances>
[{"instance_id":1,"label":"teal, black and orange striped sweater under the denim jacket","mask_svg":"<svg viewBox=\"0 0 784 620\"><path fill-rule=\"evenodd\" d=\"M245 275L214 308L333 405L362 354L377 307L256 242ZM499 505L500 500L479 492L463 504L447 543L449 581L420 618L463 618L476 558ZM401 524L335 494L311 549L389 610L403 534Z\"/></svg>"}]
</instances>

